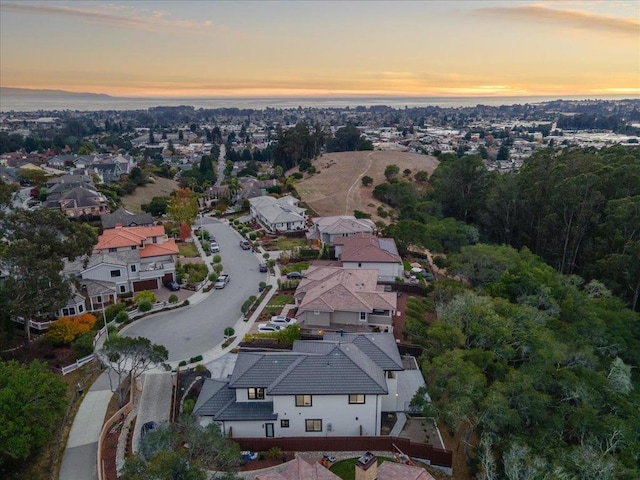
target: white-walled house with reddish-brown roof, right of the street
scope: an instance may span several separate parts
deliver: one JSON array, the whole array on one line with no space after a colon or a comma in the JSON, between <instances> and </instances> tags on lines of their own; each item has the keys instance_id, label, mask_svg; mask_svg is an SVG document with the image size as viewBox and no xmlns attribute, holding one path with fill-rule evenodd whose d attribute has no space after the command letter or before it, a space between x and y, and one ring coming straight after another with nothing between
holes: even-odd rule
<instances>
[{"instance_id":1,"label":"white-walled house with reddish-brown roof, right of the street","mask_svg":"<svg viewBox=\"0 0 640 480\"><path fill-rule=\"evenodd\" d=\"M357 233L334 240L335 257L343 268L378 270L379 281L394 281L402 276L402 258L393 238L379 238L370 233Z\"/></svg>"}]
</instances>

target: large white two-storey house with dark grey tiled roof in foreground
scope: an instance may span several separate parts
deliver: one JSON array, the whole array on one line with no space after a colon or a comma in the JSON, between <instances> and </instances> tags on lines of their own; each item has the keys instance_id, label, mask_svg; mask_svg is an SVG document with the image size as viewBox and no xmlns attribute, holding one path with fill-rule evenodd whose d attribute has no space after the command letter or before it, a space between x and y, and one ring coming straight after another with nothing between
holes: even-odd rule
<instances>
[{"instance_id":1,"label":"large white two-storey house with dark grey tiled roof in foreground","mask_svg":"<svg viewBox=\"0 0 640 480\"><path fill-rule=\"evenodd\" d=\"M380 435L402 370L389 333L297 340L291 352L240 352L228 379L205 379L193 413L235 438Z\"/></svg>"}]
</instances>

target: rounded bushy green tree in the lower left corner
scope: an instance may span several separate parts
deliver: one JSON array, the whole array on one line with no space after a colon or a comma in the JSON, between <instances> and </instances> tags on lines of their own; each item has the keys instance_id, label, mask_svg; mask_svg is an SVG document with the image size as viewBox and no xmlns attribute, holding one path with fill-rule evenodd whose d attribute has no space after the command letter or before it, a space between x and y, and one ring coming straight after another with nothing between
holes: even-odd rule
<instances>
[{"instance_id":1,"label":"rounded bushy green tree in the lower left corner","mask_svg":"<svg viewBox=\"0 0 640 480\"><path fill-rule=\"evenodd\" d=\"M0 464L43 447L64 414L65 382L40 362L0 362Z\"/></svg>"}]
</instances>

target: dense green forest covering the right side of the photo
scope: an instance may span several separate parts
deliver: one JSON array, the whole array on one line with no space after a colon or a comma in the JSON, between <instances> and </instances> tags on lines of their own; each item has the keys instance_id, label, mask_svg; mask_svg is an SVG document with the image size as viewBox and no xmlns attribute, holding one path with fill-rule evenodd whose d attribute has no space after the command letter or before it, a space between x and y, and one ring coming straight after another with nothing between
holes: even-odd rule
<instances>
[{"instance_id":1,"label":"dense green forest covering the right side of the photo","mask_svg":"<svg viewBox=\"0 0 640 480\"><path fill-rule=\"evenodd\" d=\"M426 187L374 192L400 249L446 254L406 312L414 401L478 478L638 478L640 151L547 150L507 175L440 160Z\"/></svg>"}]
</instances>

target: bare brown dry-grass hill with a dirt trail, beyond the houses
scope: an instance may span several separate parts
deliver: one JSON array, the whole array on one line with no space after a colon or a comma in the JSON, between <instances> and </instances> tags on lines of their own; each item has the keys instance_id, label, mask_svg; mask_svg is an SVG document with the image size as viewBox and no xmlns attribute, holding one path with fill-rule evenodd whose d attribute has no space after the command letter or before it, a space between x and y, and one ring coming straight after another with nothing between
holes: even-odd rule
<instances>
[{"instance_id":1,"label":"bare brown dry-grass hill with a dirt trail, beyond the houses","mask_svg":"<svg viewBox=\"0 0 640 480\"><path fill-rule=\"evenodd\" d=\"M376 209L381 203L373 198L373 188L385 181L387 165L411 170L410 178L420 171L431 175L438 166L435 157L416 153L394 151L363 151L327 153L313 161L317 173L305 177L296 184L300 198L318 215L353 215L354 210L371 214L374 221L381 220ZM362 177L373 178L373 184L365 187Z\"/></svg>"}]
</instances>

